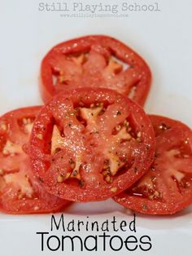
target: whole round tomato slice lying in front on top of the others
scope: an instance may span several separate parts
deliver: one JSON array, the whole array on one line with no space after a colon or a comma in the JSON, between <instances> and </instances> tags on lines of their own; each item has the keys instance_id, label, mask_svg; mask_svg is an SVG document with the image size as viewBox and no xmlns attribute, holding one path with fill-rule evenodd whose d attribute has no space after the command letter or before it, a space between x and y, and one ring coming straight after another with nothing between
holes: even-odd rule
<instances>
[{"instance_id":1,"label":"whole round tomato slice lying in front on top of the others","mask_svg":"<svg viewBox=\"0 0 192 256\"><path fill-rule=\"evenodd\" d=\"M131 99L114 90L80 88L41 108L29 151L48 192L70 201L101 201L145 173L155 135Z\"/></svg>"}]
</instances>

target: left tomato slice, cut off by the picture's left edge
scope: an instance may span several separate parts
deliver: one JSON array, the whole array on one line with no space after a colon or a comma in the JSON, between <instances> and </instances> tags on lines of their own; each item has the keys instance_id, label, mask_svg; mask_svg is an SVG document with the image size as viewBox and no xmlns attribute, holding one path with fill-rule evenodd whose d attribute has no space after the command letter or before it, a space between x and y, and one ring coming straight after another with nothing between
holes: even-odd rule
<instances>
[{"instance_id":1,"label":"left tomato slice, cut off by the picture's left edge","mask_svg":"<svg viewBox=\"0 0 192 256\"><path fill-rule=\"evenodd\" d=\"M40 109L20 108L0 118L0 210L9 214L50 213L69 203L42 188L23 150Z\"/></svg>"}]
</instances>

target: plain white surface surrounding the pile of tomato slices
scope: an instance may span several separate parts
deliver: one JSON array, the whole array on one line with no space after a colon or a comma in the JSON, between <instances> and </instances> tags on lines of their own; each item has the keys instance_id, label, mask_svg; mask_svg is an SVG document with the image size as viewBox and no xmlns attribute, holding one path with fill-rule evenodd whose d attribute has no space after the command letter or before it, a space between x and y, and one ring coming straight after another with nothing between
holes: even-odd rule
<instances>
[{"instance_id":1,"label":"plain white surface surrounding the pile of tomato slices","mask_svg":"<svg viewBox=\"0 0 192 256\"><path fill-rule=\"evenodd\" d=\"M42 2L42 1L41 1ZM59 1L58 1L59 2ZM72 1L64 1L72 5ZM76 1L74 1L76 2ZM82 1L89 3L88 1ZM126 1L106 1L117 4ZM154 1L129 1L129 4L155 5ZM179 0L156 1L161 11L129 11L129 17L64 18L59 11L38 11L38 1L2 1L0 15L0 112L12 108L41 104L37 77L41 58L58 42L85 34L103 33L119 38L132 46L150 64L153 85L149 95L147 113L158 113L180 119L192 126L192 37L190 33L191 2ZM94 0L92 4L99 4ZM72 9L72 6L70 7ZM85 12L76 11L76 14ZM101 12L97 11L98 14ZM123 14L119 11L119 14ZM87 217L89 216L89 217ZM98 220L116 216L131 221L133 214L109 200L104 202L74 204L64 214L64 219ZM151 217L137 214L137 232L109 232L111 236L151 237L152 249L129 252L121 249L103 252L101 242L98 255L192 255L192 209L188 208L171 217ZM41 237L36 232L50 232L50 215L13 216L0 214L0 254L13 255L86 255L92 252L60 250L41 252ZM85 238L99 232L69 232L71 236ZM58 236L68 235L60 231ZM55 235L52 232L50 235ZM54 246L54 245L53 245ZM55 245L56 246L56 245ZM114 246L120 246L114 241Z\"/></svg>"}]
</instances>

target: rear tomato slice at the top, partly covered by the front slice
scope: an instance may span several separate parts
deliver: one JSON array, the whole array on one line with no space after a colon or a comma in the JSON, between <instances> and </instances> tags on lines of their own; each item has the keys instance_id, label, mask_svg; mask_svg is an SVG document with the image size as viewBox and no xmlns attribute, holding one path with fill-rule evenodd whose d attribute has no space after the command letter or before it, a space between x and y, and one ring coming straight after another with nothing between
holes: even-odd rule
<instances>
[{"instance_id":1,"label":"rear tomato slice at the top, partly covered by the front slice","mask_svg":"<svg viewBox=\"0 0 192 256\"><path fill-rule=\"evenodd\" d=\"M142 57L107 36L62 42L41 63L41 95L45 102L69 88L107 87L143 105L150 86L151 71Z\"/></svg>"}]
</instances>

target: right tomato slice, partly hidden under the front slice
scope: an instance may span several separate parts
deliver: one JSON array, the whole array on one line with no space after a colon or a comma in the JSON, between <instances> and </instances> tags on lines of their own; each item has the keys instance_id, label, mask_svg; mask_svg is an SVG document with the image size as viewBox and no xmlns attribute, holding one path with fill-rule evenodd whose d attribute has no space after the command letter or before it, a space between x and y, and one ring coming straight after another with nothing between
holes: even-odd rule
<instances>
[{"instance_id":1,"label":"right tomato slice, partly hidden under the front slice","mask_svg":"<svg viewBox=\"0 0 192 256\"><path fill-rule=\"evenodd\" d=\"M115 201L143 214L174 214L192 203L192 132L180 121L151 116L155 161Z\"/></svg>"}]
</instances>

